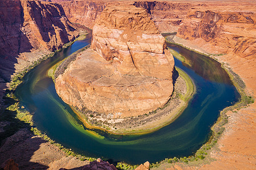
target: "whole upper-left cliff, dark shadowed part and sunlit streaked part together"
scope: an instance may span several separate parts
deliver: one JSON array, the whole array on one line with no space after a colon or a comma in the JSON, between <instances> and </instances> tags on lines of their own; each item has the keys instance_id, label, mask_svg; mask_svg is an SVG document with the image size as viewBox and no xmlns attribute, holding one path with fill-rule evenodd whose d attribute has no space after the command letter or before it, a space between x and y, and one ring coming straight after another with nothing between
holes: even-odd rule
<instances>
[{"instance_id":1,"label":"whole upper-left cliff, dark shadowed part and sunlit streaked part together","mask_svg":"<svg viewBox=\"0 0 256 170\"><path fill-rule=\"evenodd\" d=\"M15 63L35 60L22 53L60 49L79 35L57 3L26 0L0 3L0 30L1 82L10 79Z\"/></svg>"}]
</instances>

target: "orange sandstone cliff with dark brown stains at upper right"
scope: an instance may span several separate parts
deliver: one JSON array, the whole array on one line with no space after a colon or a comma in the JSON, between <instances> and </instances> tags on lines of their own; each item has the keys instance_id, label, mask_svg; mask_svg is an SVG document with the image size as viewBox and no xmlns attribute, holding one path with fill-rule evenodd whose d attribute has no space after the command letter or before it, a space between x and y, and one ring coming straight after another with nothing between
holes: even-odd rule
<instances>
[{"instance_id":1,"label":"orange sandstone cliff with dark brown stains at upper right","mask_svg":"<svg viewBox=\"0 0 256 170\"><path fill-rule=\"evenodd\" d=\"M251 11L197 7L188 12L177 36L195 41L209 53L256 57L255 21Z\"/></svg>"}]
</instances>

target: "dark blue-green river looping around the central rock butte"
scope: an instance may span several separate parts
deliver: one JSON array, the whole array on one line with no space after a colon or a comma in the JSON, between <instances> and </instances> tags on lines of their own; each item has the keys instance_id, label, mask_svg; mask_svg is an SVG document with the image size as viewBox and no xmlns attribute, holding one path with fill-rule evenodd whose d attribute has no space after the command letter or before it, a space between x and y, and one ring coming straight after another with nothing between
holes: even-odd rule
<instances>
[{"instance_id":1,"label":"dark blue-green river looping around the central rock butte","mask_svg":"<svg viewBox=\"0 0 256 170\"><path fill-rule=\"evenodd\" d=\"M187 108L170 125L152 133L123 135L118 139L97 135L84 129L69 105L56 94L55 84L47 76L51 66L88 45L89 41L75 41L40 63L23 77L23 83L15 91L20 104L34 113L33 120L38 129L79 154L129 164L192 155L209 139L210 126L220 111L240 97L220 63L181 46L168 44L168 48L184 57L183 62L175 58L175 66L185 71L196 86L196 93Z\"/></svg>"}]
</instances>

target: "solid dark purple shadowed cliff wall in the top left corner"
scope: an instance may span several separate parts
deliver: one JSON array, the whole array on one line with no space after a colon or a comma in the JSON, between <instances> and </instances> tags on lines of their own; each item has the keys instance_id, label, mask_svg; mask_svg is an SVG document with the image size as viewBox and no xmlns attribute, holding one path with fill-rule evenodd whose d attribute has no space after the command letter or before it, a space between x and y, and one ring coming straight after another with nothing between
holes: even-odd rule
<instances>
[{"instance_id":1,"label":"solid dark purple shadowed cliff wall in the top left corner","mask_svg":"<svg viewBox=\"0 0 256 170\"><path fill-rule=\"evenodd\" d=\"M22 31L24 13L20 1L1 3L0 9L0 83L6 83L15 71L18 54L30 52L32 45Z\"/></svg>"}]
</instances>

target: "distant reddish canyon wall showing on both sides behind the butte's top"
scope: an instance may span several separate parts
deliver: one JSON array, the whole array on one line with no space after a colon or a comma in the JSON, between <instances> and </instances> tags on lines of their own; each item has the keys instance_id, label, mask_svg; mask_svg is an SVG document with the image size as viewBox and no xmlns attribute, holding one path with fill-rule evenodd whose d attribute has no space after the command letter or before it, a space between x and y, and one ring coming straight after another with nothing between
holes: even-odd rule
<instances>
[{"instance_id":1,"label":"distant reddish canyon wall showing on both sides behind the butte's top","mask_svg":"<svg viewBox=\"0 0 256 170\"><path fill-rule=\"evenodd\" d=\"M115 6L119 2L112 1L64 1L54 0L63 6L65 14L73 23L80 23L86 27L93 28L97 15L107 5ZM127 1L122 2L133 4L136 7L144 8L154 20L160 32L177 32L179 25L187 15L191 3L158 2L158 1Z\"/></svg>"}]
</instances>

